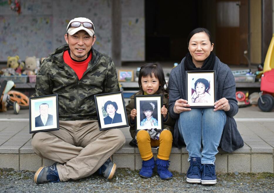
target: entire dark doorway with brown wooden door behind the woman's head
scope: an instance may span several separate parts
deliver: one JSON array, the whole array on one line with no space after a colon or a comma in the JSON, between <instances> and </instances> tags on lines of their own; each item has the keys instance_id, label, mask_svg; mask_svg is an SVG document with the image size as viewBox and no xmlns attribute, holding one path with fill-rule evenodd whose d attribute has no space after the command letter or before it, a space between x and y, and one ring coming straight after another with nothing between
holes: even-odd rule
<instances>
[{"instance_id":1,"label":"entire dark doorway with brown wooden door behind the woman's head","mask_svg":"<svg viewBox=\"0 0 274 193\"><path fill-rule=\"evenodd\" d=\"M236 27L230 23L227 27L227 21L217 18L235 10ZM190 31L204 27L211 32L213 51L222 62L247 64L243 53L248 50L248 0L145 0L145 17L146 61L180 62L188 52Z\"/></svg>"}]
</instances>

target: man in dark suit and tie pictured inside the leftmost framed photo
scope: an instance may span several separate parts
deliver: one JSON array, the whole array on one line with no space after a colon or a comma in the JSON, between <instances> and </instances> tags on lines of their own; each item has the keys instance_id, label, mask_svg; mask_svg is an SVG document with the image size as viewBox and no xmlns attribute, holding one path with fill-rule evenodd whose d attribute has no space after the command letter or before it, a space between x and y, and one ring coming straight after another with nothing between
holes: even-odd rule
<instances>
[{"instance_id":1,"label":"man in dark suit and tie pictured inside the leftmost framed photo","mask_svg":"<svg viewBox=\"0 0 274 193\"><path fill-rule=\"evenodd\" d=\"M35 127L53 125L53 116L48 114L48 103L39 106L40 115L35 117Z\"/></svg>"}]
</instances>

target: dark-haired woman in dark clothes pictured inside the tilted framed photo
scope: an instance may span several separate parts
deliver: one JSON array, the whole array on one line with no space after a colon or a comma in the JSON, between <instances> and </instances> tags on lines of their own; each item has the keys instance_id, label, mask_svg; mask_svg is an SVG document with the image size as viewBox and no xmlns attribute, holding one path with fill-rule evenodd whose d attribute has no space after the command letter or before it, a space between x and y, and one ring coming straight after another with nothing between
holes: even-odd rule
<instances>
[{"instance_id":1,"label":"dark-haired woman in dark clothes pictured inside the tilted framed photo","mask_svg":"<svg viewBox=\"0 0 274 193\"><path fill-rule=\"evenodd\" d=\"M104 109L108 114L108 116L104 118L105 125L122 122L121 114L116 113L116 111L118 110L118 106L116 102L106 101L106 103L104 104Z\"/></svg>"}]
</instances>

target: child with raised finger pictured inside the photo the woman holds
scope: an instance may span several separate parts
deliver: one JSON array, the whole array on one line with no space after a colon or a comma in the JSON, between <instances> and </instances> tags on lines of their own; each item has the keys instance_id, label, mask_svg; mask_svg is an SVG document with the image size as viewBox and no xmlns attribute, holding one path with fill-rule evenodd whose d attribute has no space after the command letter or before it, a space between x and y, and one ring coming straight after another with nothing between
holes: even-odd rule
<instances>
[{"instance_id":1,"label":"child with raised finger pictured inside the photo the woman holds","mask_svg":"<svg viewBox=\"0 0 274 193\"><path fill-rule=\"evenodd\" d=\"M209 82L207 79L199 78L194 84L195 91L191 98L193 103L207 103L210 101L211 96L208 93Z\"/></svg>"}]
</instances>

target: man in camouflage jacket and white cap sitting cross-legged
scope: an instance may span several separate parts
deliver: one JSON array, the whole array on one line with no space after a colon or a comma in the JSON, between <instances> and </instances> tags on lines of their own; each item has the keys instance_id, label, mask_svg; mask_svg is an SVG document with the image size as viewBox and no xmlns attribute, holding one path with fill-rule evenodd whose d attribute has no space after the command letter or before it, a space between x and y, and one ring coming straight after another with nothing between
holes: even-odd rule
<instances>
[{"instance_id":1,"label":"man in camouflage jacket and white cap sitting cross-legged","mask_svg":"<svg viewBox=\"0 0 274 193\"><path fill-rule=\"evenodd\" d=\"M111 179L110 157L125 144L119 129L99 131L94 94L120 91L114 62L92 48L92 21L74 18L67 26L66 45L45 58L36 78L35 96L58 94L59 130L33 136L33 151L57 163L40 167L37 184L77 180L98 170Z\"/></svg>"}]
</instances>

